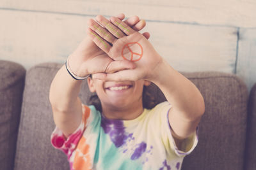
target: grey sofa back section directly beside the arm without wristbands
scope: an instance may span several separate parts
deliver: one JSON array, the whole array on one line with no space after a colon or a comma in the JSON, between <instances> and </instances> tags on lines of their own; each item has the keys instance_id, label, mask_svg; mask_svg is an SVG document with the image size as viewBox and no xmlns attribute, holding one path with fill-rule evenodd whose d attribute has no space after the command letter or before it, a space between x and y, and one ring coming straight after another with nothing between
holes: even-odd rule
<instances>
[{"instance_id":1,"label":"grey sofa back section directly beside the arm without wristbands","mask_svg":"<svg viewBox=\"0 0 256 170\"><path fill-rule=\"evenodd\" d=\"M246 85L225 73L186 74L205 99L199 141L184 159L186 169L242 170L244 164L247 101Z\"/></svg>"}]
</instances>

